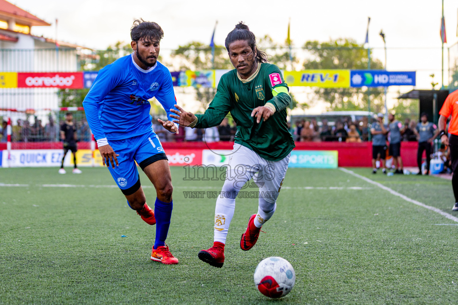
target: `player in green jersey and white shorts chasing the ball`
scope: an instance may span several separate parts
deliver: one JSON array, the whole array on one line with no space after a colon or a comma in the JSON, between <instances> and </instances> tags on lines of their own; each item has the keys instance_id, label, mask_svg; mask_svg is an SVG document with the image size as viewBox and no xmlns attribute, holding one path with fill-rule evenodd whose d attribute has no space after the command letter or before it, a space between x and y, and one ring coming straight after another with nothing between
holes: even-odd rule
<instances>
[{"instance_id":1,"label":"player in green jersey and white shorts chasing the ball","mask_svg":"<svg viewBox=\"0 0 458 305\"><path fill-rule=\"evenodd\" d=\"M234 215L235 198L251 178L259 187L259 207L251 215L240 248L255 245L261 226L272 217L282 186L294 140L286 124L291 98L278 67L267 63L267 55L256 48L256 38L242 22L225 41L235 69L221 77L215 98L204 114L194 115L176 106L175 123L192 128L219 125L230 112L237 124L234 150L226 180L215 208L213 247L198 257L214 267L224 263L224 244Z\"/></svg>"}]
</instances>

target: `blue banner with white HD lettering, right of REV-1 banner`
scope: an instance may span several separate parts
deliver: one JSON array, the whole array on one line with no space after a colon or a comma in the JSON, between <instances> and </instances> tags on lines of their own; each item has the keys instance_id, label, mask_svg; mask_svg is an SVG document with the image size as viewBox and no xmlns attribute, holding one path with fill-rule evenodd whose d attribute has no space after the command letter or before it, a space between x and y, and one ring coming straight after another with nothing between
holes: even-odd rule
<instances>
[{"instance_id":1,"label":"blue banner with white HD lettering, right of REV-1 banner","mask_svg":"<svg viewBox=\"0 0 458 305\"><path fill-rule=\"evenodd\" d=\"M415 86L415 71L351 70L352 87Z\"/></svg>"}]
</instances>

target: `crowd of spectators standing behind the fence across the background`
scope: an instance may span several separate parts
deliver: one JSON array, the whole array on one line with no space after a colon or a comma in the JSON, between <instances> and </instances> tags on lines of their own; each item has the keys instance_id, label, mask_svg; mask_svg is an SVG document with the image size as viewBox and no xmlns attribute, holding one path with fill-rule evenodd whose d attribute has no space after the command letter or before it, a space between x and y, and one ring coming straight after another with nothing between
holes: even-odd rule
<instances>
[{"instance_id":1,"label":"crowd of spectators standing behind the fence across the background","mask_svg":"<svg viewBox=\"0 0 458 305\"><path fill-rule=\"evenodd\" d=\"M91 129L86 120L84 111L75 111L73 122L76 126L77 139L88 142L91 140ZM12 112L11 118L12 142L59 142L60 125L65 121L66 111L28 110ZM416 115L411 115L416 117ZM212 128L185 128L179 127L179 134L171 134L157 122L152 120L153 129L162 142L190 142L205 141L207 143L218 141L234 141L237 128L228 117L224 118L219 126ZM0 142L6 142L7 116L0 117ZM327 119L316 118L295 120L288 122L288 131L296 142L347 142L359 143L369 141L371 124L375 119L363 117L352 121L351 117L342 117L336 121L328 122ZM385 122L387 123L387 122ZM403 141L416 141L414 133L417 121L405 118Z\"/></svg>"}]
</instances>

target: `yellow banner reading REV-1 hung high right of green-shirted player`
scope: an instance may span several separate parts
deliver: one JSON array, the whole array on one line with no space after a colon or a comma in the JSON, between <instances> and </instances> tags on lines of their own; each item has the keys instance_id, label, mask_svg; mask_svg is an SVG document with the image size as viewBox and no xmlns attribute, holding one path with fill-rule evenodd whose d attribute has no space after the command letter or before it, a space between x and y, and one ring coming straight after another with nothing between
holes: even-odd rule
<instances>
[{"instance_id":1,"label":"yellow banner reading REV-1 hung high right of green-shirted player","mask_svg":"<svg viewBox=\"0 0 458 305\"><path fill-rule=\"evenodd\" d=\"M288 86L349 88L350 70L285 71L284 80Z\"/></svg>"}]
</instances>

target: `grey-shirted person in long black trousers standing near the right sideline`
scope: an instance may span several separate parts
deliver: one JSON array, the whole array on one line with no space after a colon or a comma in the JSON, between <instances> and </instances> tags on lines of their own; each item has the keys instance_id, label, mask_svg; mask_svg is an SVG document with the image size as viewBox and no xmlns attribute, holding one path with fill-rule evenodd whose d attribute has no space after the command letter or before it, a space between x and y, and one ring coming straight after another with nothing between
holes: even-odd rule
<instances>
[{"instance_id":1,"label":"grey-shirted person in long black trousers standing near the right sideline","mask_svg":"<svg viewBox=\"0 0 458 305\"><path fill-rule=\"evenodd\" d=\"M419 172L417 175L422 175L421 161L423 159L423 151L426 151L426 175L429 175L429 165L431 161L431 143L439 134L436 124L428 122L428 115L423 112L421 114L421 122L417 124L414 132L418 137L417 164Z\"/></svg>"}]
</instances>

